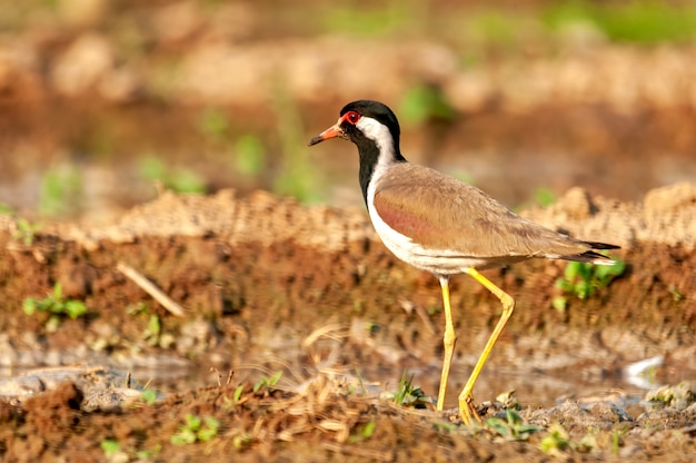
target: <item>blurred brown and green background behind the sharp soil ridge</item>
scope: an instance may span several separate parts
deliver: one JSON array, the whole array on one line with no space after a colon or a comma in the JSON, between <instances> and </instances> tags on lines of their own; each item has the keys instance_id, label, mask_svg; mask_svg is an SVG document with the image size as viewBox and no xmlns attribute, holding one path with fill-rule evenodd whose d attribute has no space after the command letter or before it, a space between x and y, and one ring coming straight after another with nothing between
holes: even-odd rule
<instances>
[{"instance_id":1,"label":"blurred brown and green background behind the sharp soil ridge","mask_svg":"<svg viewBox=\"0 0 696 463\"><path fill-rule=\"evenodd\" d=\"M509 207L696 179L696 2L0 0L0 213L162 188L360 206L355 99Z\"/></svg>"}]
</instances>

